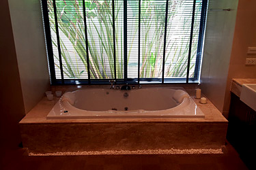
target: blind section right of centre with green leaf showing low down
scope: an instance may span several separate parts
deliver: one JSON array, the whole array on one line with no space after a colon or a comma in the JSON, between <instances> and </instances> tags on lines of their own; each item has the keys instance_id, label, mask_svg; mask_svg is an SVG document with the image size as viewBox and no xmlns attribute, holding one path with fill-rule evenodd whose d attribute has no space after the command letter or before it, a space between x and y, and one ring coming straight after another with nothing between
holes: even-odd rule
<instances>
[{"instance_id":1,"label":"blind section right of centre with green leaf showing low down","mask_svg":"<svg viewBox=\"0 0 256 170\"><path fill-rule=\"evenodd\" d=\"M167 1L141 1L140 78L162 78Z\"/></svg>"}]
</instances>

